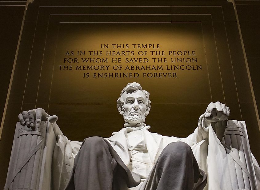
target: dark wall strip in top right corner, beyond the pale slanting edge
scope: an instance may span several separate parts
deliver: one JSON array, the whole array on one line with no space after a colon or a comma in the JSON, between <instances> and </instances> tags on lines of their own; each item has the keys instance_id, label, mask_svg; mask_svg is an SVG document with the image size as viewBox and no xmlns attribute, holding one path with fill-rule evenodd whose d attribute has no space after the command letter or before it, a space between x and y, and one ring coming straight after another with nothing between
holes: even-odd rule
<instances>
[{"instance_id":1,"label":"dark wall strip in top right corner, beyond the pale slanting edge","mask_svg":"<svg viewBox=\"0 0 260 190\"><path fill-rule=\"evenodd\" d=\"M255 103L260 113L260 1L234 1L234 9L238 19L244 54L254 91Z\"/></svg>"}]
</instances>

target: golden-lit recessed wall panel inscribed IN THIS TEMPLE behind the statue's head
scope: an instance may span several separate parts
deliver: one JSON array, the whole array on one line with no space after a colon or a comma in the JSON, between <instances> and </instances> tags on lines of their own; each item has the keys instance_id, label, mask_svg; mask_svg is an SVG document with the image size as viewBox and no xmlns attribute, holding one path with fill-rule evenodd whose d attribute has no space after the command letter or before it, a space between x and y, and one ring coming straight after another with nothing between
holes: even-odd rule
<instances>
[{"instance_id":1,"label":"golden-lit recessed wall panel inscribed IN THIS TEMPLE behind the statue's head","mask_svg":"<svg viewBox=\"0 0 260 190\"><path fill-rule=\"evenodd\" d=\"M133 81L153 103L210 102L201 23L60 23L50 104L114 103Z\"/></svg>"}]
</instances>

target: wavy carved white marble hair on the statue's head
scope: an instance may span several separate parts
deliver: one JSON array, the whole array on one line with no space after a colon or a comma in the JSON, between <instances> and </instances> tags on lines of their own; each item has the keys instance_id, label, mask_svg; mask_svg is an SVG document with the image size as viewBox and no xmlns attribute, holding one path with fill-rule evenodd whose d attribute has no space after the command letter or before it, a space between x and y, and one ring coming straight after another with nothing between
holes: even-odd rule
<instances>
[{"instance_id":1,"label":"wavy carved white marble hair on the statue's head","mask_svg":"<svg viewBox=\"0 0 260 190\"><path fill-rule=\"evenodd\" d=\"M132 92L134 92L134 91L136 91L136 90L141 90L141 91L145 94L145 96L146 96L146 98L147 98L146 106L150 108L150 104L151 104L151 101L149 100L149 95L150 95L150 93L147 92L146 90L143 90L143 89L142 89L142 86L141 86L139 83L133 82L133 83L128 83L128 84L126 85L126 87L122 89L122 92L121 92L121 94L120 94L120 97L119 97L118 100L117 100L117 107L118 107L118 109L119 109L120 107L122 108L122 105L124 105L124 103L125 103L125 102L123 101L123 97L122 97L123 93L126 92L126 93L128 94L128 93L132 93Z\"/></svg>"}]
</instances>

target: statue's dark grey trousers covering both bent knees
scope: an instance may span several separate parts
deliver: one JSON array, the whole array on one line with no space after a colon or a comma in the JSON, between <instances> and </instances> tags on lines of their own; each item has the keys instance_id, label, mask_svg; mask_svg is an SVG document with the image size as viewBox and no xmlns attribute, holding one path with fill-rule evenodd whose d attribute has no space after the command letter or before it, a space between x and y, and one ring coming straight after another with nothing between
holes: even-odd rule
<instances>
[{"instance_id":1,"label":"statue's dark grey trousers covering both bent knees","mask_svg":"<svg viewBox=\"0 0 260 190\"><path fill-rule=\"evenodd\" d=\"M163 149L140 190L194 190L199 178L200 169L190 146L172 142ZM109 142L90 137L74 159L65 190L127 190L139 183L140 177L126 167Z\"/></svg>"}]
</instances>

